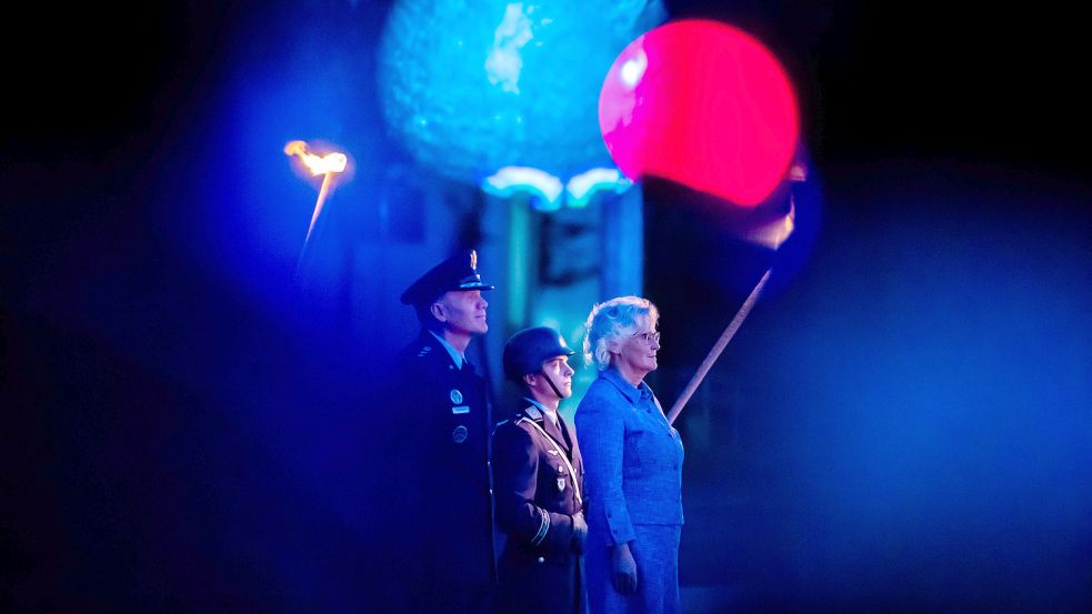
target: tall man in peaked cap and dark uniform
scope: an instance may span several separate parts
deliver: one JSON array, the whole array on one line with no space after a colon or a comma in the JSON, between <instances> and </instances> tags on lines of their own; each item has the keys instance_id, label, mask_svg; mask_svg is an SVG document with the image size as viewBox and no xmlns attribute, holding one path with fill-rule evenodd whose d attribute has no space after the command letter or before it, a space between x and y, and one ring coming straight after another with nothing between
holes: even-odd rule
<instances>
[{"instance_id":1,"label":"tall man in peaked cap and dark uniform","mask_svg":"<svg viewBox=\"0 0 1092 614\"><path fill-rule=\"evenodd\" d=\"M421 332L399 355L389 395L383 459L390 492L377 492L390 526L394 587L385 607L480 614L495 584L487 384L465 351L489 330L478 254L463 251L424 273L402 294ZM389 509L387 506L390 506ZM388 600L391 601L391 600Z\"/></svg>"}]
</instances>

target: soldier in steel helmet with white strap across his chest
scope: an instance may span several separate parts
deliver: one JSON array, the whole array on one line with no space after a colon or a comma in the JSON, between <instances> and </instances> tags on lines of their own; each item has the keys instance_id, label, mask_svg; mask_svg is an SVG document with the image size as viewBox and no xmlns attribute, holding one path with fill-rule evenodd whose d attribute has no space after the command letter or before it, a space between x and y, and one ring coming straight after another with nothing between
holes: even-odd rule
<instances>
[{"instance_id":1,"label":"soldier in steel helmet with white strap across his chest","mask_svg":"<svg viewBox=\"0 0 1092 614\"><path fill-rule=\"evenodd\" d=\"M504 345L504 376L521 385L520 410L493 433L497 524L508 535L498 565L497 611L584 611L584 467L558 409L572 395L573 351L547 326Z\"/></svg>"}]
</instances>

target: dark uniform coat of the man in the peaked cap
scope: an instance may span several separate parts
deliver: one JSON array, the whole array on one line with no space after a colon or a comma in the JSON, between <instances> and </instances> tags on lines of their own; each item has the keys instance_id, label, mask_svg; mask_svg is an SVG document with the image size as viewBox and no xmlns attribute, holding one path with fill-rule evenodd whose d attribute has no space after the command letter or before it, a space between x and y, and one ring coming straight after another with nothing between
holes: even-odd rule
<instances>
[{"instance_id":1,"label":"dark uniform coat of the man in the peaked cap","mask_svg":"<svg viewBox=\"0 0 1092 614\"><path fill-rule=\"evenodd\" d=\"M375 493L400 607L481 612L495 585L485 381L429 332L398 356Z\"/></svg>"}]
</instances>

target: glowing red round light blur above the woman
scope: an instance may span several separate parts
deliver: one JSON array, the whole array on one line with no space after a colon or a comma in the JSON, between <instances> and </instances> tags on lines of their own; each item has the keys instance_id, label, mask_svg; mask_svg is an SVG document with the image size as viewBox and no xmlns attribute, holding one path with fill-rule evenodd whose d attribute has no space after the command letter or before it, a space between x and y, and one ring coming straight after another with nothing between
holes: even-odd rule
<instances>
[{"instance_id":1,"label":"glowing red round light blur above the woman","mask_svg":"<svg viewBox=\"0 0 1092 614\"><path fill-rule=\"evenodd\" d=\"M599 97L599 125L630 179L660 177L754 207L797 151L797 100L784 69L731 26L685 20L631 42Z\"/></svg>"}]
</instances>

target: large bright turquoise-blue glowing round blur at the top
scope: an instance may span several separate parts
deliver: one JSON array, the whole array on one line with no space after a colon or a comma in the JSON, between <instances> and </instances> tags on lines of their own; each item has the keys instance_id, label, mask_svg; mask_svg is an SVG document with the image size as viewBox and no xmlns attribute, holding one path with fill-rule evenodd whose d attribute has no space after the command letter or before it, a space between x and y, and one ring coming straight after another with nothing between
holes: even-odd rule
<instances>
[{"instance_id":1,"label":"large bright turquoise-blue glowing round blur at the top","mask_svg":"<svg viewBox=\"0 0 1092 614\"><path fill-rule=\"evenodd\" d=\"M384 118L421 165L475 184L504 167L609 167L603 78L665 18L659 0L398 1L379 53Z\"/></svg>"}]
</instances>

